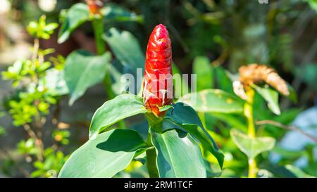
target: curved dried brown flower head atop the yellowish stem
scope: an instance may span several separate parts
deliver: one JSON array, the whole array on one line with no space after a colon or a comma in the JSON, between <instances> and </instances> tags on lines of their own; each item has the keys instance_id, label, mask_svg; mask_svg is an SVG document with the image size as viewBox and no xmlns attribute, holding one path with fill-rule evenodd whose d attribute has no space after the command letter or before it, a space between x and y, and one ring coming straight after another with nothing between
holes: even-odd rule
<instances>
[{"instance_id":1,"label":"curved dried brown flower head atop the yellowish stem","mask_svg":"<svg viewBox=\"0 0 317 192\"><path fill-rule=\"evenodd\" d=\"M240 67L239 73L240 82L244 85L245 89L248 89L247 87L249 87L250 84L266 82L284 96L290 95L285 80L282 79L273 68L266 65L249 64Z\"/></svg>"}]
</instances>

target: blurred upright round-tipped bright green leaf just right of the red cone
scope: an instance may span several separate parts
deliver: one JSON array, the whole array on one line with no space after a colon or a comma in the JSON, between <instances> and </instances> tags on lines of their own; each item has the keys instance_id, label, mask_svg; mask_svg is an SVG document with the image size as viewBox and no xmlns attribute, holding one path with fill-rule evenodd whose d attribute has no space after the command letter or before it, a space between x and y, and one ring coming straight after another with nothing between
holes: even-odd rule
<instances>
[{"instance_id":1,"label":"blurred upright round-tipped bright green leaf just right of the red cone","mask_svg":"<svg viewBox=\"0 0 317 192\"><path fill-rule=\"evenodd\" d=\"M197 74L197 91L213 88L213 68L209 58L205 56L196 57L193 72Z\"/></svg>"}]
</instances>

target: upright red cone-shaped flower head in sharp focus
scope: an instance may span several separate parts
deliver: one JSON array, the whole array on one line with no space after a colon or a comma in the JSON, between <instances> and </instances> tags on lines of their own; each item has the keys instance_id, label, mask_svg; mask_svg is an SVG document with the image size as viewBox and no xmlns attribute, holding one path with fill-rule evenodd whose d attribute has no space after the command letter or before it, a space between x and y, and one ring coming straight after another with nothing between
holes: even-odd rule
<instances>
[{"instance_id":1,"label":"upright red cone-shaped flower head in sharp focus","mask_svg":"<svg viewBox=\"0 0 317 192\"><path fill-rule=\"evenodd\" d=\"M156 116L163 116L159 108L170 105L173 99L172 47L168 30L156 25L147 44L143 98L144 105Z\"/></svg>"}]
</instances>

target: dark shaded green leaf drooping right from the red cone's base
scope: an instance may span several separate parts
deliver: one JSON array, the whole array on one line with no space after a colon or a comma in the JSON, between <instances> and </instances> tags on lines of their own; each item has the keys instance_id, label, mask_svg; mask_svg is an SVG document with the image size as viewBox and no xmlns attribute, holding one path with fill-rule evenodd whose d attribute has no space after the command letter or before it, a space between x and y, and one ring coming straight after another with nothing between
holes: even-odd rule
<instances>
[{"instance_id":1,"label":"dark shaded green leaf drooping right from the red cone's base","mask_svg":"<svg viewBox=\"0 0 317 192\"><path fill-rule=\"evenodd\" d=\"M164 118L178 124L182 129L185 129L189 134L194 136L194 138L198 139L204 150L211 152L218 160L220 167L223 167L223 153L218 151L215 141L213 141L212 137L206 129L204 129L203 124L193 108L185 103L175 103L174 108L170 109Z\"/></svg>"}]
</instances>

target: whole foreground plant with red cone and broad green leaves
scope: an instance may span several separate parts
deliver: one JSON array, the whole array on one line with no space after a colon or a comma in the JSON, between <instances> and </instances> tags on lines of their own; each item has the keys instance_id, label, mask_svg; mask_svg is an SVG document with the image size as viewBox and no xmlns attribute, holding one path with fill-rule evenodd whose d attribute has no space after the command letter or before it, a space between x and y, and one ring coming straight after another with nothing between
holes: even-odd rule
<instances>
[{"instance_id":1,"label":"whole foreground plant with red cone and broad green leaves","mask_svg":"<svg viewBox=\"0 0 317 192\"><path fill-rule=\"evenodd\" d=\"M211 165L202 152L212 154L222 168L223 154L195 110L172 104L171 60L168 30L157 25L147 46L143 96L120 94L101 105L89 140L70 155L58 177L115 177L134 160L146 166L149 177L207 177ZM137 114L148 122L145 132L139 124L116 129Z\"/></svg>"}]
</instances>

